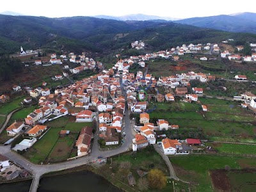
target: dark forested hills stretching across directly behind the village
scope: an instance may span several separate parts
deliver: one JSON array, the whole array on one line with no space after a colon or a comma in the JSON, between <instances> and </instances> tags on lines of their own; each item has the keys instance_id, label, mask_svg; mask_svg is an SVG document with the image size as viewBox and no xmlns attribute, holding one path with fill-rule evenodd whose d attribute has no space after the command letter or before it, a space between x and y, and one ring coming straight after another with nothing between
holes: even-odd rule
<instances>
[{"instance_id":1,"label":"dark forested hills stretching across directly behind the village","mask_svg":"<svg viewBox=\"0 0 256 192\"><path fill-rule=\"evenodd\" d=\"M231 17L231 16L230 16ZM255 42L243 35L197 28L164 20L121 21L93 17L47 18L0 15L0 53L50 48L64 51L116 51L134 40L147 42L147 49L167 49L190 42L218 42L227 38Z\"/></svg>"}]
</instances>

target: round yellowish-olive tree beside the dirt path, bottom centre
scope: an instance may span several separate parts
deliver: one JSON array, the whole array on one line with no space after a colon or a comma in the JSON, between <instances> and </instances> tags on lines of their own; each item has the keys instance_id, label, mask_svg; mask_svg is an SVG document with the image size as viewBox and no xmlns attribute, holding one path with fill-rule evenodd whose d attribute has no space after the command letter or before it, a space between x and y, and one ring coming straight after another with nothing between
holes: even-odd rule
<instances>
[{"instance_id":1,"label":"round yellowish-olive tree beside the dirt path, bottom centre","mask_svg":"<svg viewBox=\"0 0 256 192\"><path fill-rule=\"evenodd\" d=\"M152 189L163 189L166 186L166 176L161 170L152 169L148 172L148 182Z\"/></svg>"}]
</instances>

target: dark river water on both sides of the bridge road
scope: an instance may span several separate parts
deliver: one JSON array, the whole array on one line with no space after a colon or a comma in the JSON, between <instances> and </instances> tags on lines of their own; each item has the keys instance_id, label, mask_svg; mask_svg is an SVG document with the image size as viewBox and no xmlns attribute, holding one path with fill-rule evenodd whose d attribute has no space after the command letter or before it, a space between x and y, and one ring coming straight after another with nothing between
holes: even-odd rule
<instances>
[{"instance_id":1,"label":"dark river water on both sides of the bridge road","mask_svg":"<svg viewBox=\"0 0 256 192\"><path fill-rule=\"evenodd\" d=\"M31 181L16 182L12 184L1 184L2 192L26 192L29 191ZM120 189L113 186L108 180L92 172L82 171L44 177L40 180L38 192L121 192Z\"/></svg>"}]
</instances>

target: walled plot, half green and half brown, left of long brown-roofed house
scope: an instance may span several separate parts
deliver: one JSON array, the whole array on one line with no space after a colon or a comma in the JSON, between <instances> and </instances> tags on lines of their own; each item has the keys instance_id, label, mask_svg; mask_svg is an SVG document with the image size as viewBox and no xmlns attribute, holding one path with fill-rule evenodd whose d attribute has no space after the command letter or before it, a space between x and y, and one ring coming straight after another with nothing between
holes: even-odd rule
<instances>
[{"instance_id":1,"label":"walled plot, half green and half brown, left of long brown-roofed house","mask_svg":"<svg viewBox=\"0 0 256 192\"><path fill-rule=\"evenodd\" d=\"M33 163L58 162L67 159L81 128L92 126L92 124L75 123L67 117L61 117L48 122L47 126L51 127L49 131L24 153L24 156ZM70 131L70 136L60 138L61 130Z\"/></svg>"}]
</instances>

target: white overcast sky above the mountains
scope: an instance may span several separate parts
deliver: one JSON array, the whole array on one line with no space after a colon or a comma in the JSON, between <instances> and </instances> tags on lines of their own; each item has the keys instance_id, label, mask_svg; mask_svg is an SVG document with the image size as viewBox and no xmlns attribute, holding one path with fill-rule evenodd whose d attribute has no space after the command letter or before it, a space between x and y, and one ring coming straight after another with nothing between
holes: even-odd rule
<instances>
[{"instance_id":1,"label":"white overcast sky above the mountains","mask_svg":"<svg viewBox=\"0 0 256 192\"><path fill-rule=\"evenodd\" d=\"M11 11L24 15L70 17L93 15L128 15L143 13L162 17L204 17L239 12L256 12L255 0L2 0L0 12Z\"/></svg>"}]
</instances>

